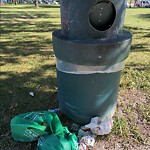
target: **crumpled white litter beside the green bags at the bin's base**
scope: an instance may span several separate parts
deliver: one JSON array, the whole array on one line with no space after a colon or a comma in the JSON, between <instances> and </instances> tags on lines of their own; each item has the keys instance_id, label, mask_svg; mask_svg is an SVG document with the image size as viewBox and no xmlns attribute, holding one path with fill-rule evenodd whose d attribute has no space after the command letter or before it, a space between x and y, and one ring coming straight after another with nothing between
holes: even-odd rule
<instances>
[{"instance_id":1,"label":"crumpled white litter beside the green bags at the bin's base","mask_svg":"<svg viewBox=\"0 0 150 150\"><path fill-rule=\"evenodd\" d=\"M94 117L87 125L82 126L78 131L79 150L90 150L94 148L95 138L98 135L109 134L112 130L112 118L102 120Z\"/></svg>"}]
</instances>

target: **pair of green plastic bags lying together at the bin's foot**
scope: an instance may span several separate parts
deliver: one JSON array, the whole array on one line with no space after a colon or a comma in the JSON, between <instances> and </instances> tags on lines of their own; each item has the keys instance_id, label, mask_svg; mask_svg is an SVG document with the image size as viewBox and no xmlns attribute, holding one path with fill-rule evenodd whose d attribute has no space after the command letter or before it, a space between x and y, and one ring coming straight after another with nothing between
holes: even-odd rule
<instances>
[{"instance_id":1,"label":"pair of green plastic bags lying together at the bin's foot","mask_svg":"<svg viewBox=\"0 0 150 150\"><path fill-rule=\"evenodd\" d=\"M38 150L78 150L77 137L63 127L57 114L47 111L18 115L11 121L14 140L38 140Z\"/></svg>"}]
</instances>

